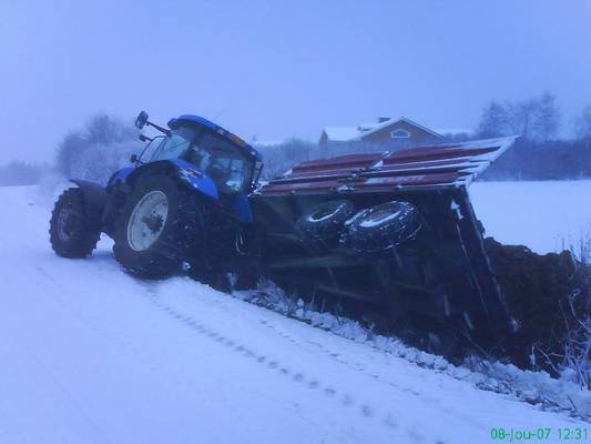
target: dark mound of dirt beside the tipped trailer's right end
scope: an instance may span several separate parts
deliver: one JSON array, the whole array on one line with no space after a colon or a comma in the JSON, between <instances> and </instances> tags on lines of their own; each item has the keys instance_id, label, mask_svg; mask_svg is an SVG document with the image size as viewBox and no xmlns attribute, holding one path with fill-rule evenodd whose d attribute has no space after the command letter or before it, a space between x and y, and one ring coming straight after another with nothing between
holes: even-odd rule
<instances>
[{"instance_id":1,"label":"dark mound of dirt beside the tipped trailer's right end","mask_svg":"<svg viewBox=\"0 0 591 444\"><path fill-rule=\"evenodd\" d=\"M589 294L588 271L578 266L569 251L542 255L524 245L503 245L492 238L485 240L485 248L509 309L521 325L503 343L502 353L513 364L531 367L532 353L543 352L557 366L567 332L577 322L569 299ZM577 310L584 310L584 297L574 303ZM543 364L544 370L554 373L552 365Z\"/></svg>"}]
</instances>

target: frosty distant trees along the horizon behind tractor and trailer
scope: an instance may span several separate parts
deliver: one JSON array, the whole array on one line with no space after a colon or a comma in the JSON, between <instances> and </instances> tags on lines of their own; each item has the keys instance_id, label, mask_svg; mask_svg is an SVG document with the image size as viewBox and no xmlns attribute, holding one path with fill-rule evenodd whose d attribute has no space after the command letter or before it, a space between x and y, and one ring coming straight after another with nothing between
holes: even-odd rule
<instances>
[{"instance_id":1,"label":"frosty distant trees along the horizon behind tractor and trailer","mask_svg":"<svg viewBox=\"0 0 591 444\"><path fill-rule=\"evenodd\" d=\"M560 134L570 134L568 138ZM563 122L556 97L513 102L492 101L485 107L472 135L448 138L447 142L520 135L481 178L482 180L573 180L591 179L591 105ZM0 165L0 185L38 183L49 173L105 183L112 172L128 164L142 143L137 130L128 122L96 114L80 129L70 131L57 147L55 163L30 164L20 161ZM327 144L291 139L281 144L256 147L265 162L262 179L275 178L294 164L313 159L355 152L393 149L368 143Z\"/></svg>"}]
</instances>

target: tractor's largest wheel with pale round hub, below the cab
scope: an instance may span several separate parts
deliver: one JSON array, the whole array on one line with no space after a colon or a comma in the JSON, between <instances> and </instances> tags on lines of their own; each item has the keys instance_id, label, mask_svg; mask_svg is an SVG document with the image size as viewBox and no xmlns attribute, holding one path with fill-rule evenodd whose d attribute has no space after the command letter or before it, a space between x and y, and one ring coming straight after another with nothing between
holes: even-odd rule
<instances>
[{"instance_id":1,"label":"tractor's largest wheel with pale round hub, below the cab","mask_svg":"<svg viewBox=\"0 0 591 444\"><path fill-rule=\"evenodd\" d=\"M131 274L162 279L179 270L195 239L196 199L169 175L140 181L115 222L113 253Z\"/></svg>"}]
</instances>

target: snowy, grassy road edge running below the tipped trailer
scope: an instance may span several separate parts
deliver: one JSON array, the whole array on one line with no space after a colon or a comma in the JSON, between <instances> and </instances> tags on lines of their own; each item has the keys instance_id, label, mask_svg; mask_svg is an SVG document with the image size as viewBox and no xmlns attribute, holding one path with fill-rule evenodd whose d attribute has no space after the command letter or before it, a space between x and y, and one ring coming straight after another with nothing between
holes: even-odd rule
<instances>
[{"instance_id":1,"label":"snowy, grassy road edge running below the tipped trailer","mask_svg":"<svg viewBox=\"0 0 591 444\"><path fill-rule=\"evenodd\" d=\"M546 372L523 371L511 364L487 362L476 357L466 360L465 365L457 366L441 356L405 345L395 337L374 334L357 321L318 312L315 306L304 303L300 299L294 301L272 282L262 282L256 291L234 292L233 295L340 337L403 357L420 367L469 381L481 390L511 395L541 410L568 412L591 421L591 392L582 390L572 382L568 373L564 373L564 377L556 380Z\"/></svg>"}]
</instances>

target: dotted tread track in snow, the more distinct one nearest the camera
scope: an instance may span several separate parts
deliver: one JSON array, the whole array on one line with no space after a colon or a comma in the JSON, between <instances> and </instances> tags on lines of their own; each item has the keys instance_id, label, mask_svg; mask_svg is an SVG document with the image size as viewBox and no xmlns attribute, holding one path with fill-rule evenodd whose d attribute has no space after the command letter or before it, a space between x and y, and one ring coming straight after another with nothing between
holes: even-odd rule
<instances>
[{"instance_id":1,"label":"dotted tread track in snow, the more distinct one nearest the camera","mask_svg":"<svg viewBox=\"0 0 591 444\"><path fill-rule=\"evenodd\" d=\"M379 408L373 407L369 403L357 401L351 394L339 391L333 387L330 384L327 384L319 379L308 376L304 372L298 372L291 369L288 365L283 365L279 360L274 359L273 356L258 353L253 347L241 343L226 334L220 333L215 329L206 325L205 323L198 321L197 319L184 314L183 312L174 309L173 306L166 304L159 299L157 289L150 287L149 291L149 301L154 304L157 309L165 312L173 320L183 323L188 329L193 330L195 333L198 333L203 336L208 337L211 341L218 343L221 346L228 349L230 351L242 355L245 359L253 360L261 366L265 367L267 371L278 372L282 376L286 377L294 384L300 384L308 390L319 391L328 398L334 400L334 402L339 403L345 407L355 408L358 415L367 420L378 421L383 426L396 430L400 425L396 420L395 415L389 412L381 411ZM294 343L296 341L291 339ZM415 442L427 442L426 437L420 431L419 426L409 426L406 427L408 437ZM435 444L445 444L440 440L436 440Z\"/></svg>"}]
</instances>

